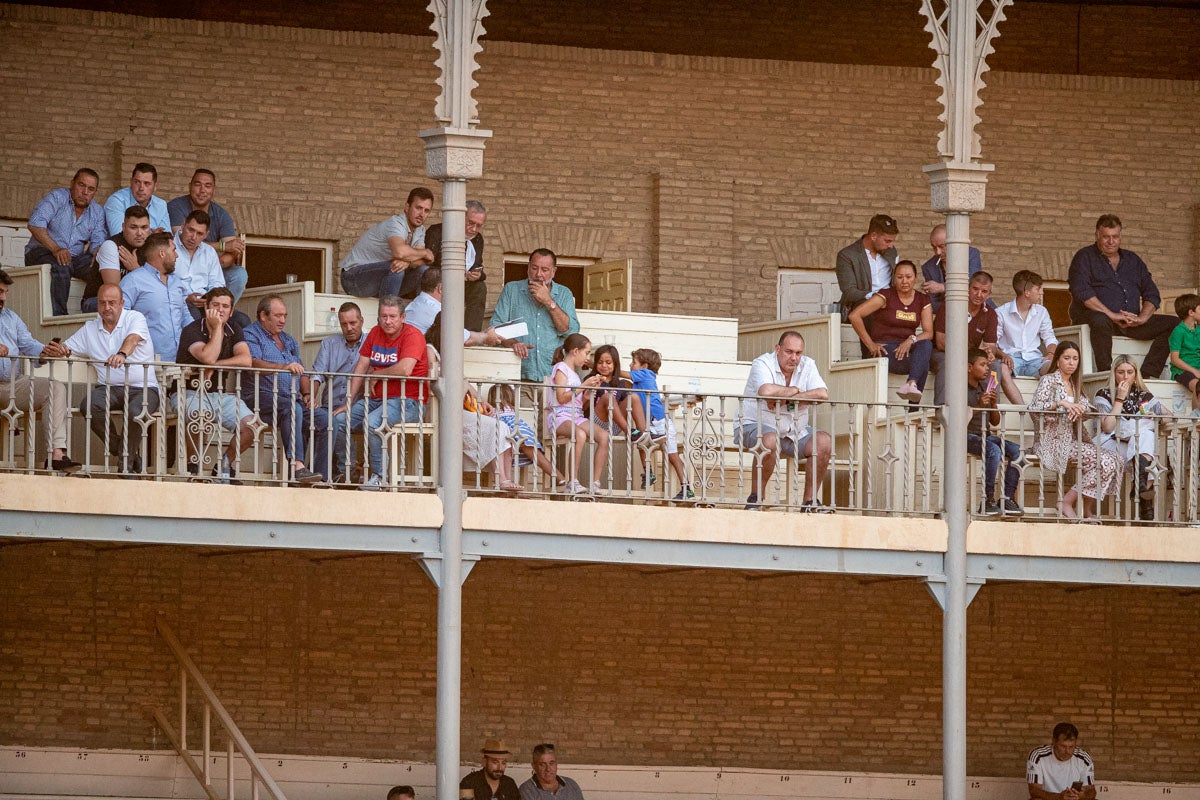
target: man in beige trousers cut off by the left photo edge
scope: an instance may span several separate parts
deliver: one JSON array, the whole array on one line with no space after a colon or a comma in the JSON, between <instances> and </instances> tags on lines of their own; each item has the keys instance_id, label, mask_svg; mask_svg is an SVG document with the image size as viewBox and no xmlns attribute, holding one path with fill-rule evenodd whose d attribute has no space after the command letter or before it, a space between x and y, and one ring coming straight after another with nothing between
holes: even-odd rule
<instances>
[{"instance_id":1,"label":"man in beige trousers cut off by the left photo edge","mask_svg":"<svg viewBox=\"0 0 1200 800\"><path fill-rule=\"evenodd\" d=\"M24 374L16 356L44 357L46 345L34 338L25 323L12 308L5 308L12 278L0 270L0 410L11 413L46 410L49 439L48 467L60 473L74 473L82 464L67 456L67 387L61 381Z\"/></svg>"}]
</instances>

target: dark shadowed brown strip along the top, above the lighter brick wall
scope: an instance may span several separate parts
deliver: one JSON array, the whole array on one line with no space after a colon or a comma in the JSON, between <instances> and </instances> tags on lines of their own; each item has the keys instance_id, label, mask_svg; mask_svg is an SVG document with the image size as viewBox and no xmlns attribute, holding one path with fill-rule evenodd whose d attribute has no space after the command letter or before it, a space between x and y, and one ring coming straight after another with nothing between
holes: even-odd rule
<instances>
[{"instance_id":1,"label":"dark shadowed brown strip along the top, above the lighter brick wall","mask_svg":"<svg viewBox=\"0 0 1200 800\"><path fill-rule=\"evenodd\" d=\"M48 0L44 5L427 36L421 2L371 0L181 7L174 0ZM940 4L935 4L937 6ZM1172 4L1018 2L1006 12L994 66L1013 72L1200 77L1200 11ZM1176 6L1182 4L1174 4ZM488 42L538 42L785 61L925 67L932 61L912 0L504 0L488 7Z\"/></svg>"}]
</instances>

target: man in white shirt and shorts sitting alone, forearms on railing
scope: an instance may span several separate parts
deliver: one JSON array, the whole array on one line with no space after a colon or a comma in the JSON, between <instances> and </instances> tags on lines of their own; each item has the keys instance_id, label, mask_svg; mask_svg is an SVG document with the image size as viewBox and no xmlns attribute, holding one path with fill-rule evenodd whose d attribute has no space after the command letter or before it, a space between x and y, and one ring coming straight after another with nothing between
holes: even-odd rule
<instances>
[{"instance_id":1,"label":"man in white shirt and shorts sitting alone, forearms on railing","mask_svg":"<svg viewBox=\"0 0 1200 800\"><path fill-rule=\"evenodd\" d=\"M814 431L809 425L808 407L829 399L829 390L816 362L804 355L804 337L797 331L786 331L779 337L774 353L764 353L750 365L750 378L742 398L742 414L734 440L745 449L758 440L767 452L760 469L750 475L750 497L746 510L758 510L760 488L767 486L779 453L790 458L808 461L804 481L804 503L800 511L830 513L821 505L817 492L824 483L833 437L824 431Z\"/></svg>"}]
</instances>

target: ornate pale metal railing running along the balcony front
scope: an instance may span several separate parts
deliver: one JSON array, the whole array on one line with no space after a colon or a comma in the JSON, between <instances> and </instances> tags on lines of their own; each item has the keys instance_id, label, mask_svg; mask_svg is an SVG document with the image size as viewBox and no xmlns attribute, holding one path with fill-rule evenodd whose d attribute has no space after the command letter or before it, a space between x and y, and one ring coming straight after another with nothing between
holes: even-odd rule
<instances>
[{"instance_id":1,"label":"ornate pale metal railing running along the balcony front","mask_svg":"<svg viewBox=\"0 0 1200 800\"><path fill-rule=\"evenodd\" d=\"M25 374L34 366L25 360ZM319 401L304 403L296 399L289 373L138 365L133 369L143 377L156 371L161 402L154 410L138 407L122 413L130 393L101 391L110 377L106 369L56 361L37 372L40 379L60 384L65 410L59 414L72 458L84 464L82 474L292 486L313 480L298 481L293 464L302 464L322 487L359 488L372 474L379 481L370 488L436 487L438 403L448 401L434 399L433 381L427 379L403 379L400 386L368 384L372 393L378 386L379 397L360 399L342 413L328 389L349 380L346 374L319 375L326 390ZM0 469L42 473L46 447L53 444L46 439L49 404L30 404L17 383L12 375L0 381ZM575 391L582 402L570 404L572 410L553 402L545 384L476 385L463 402L468 493L781 511L811 510L805 505L810 494L826 510L839 512L931 517L943 510L948 476L942 463L943 425L935 408L841 399L790 407L769 398L678 393L670 387ZM666 422L652 425L640 411L652 393L667 411L677 458L668 452L672 435ZM92 396L101 402L82 402ZM408 402L406 414L400 399L406 396L426 402ZM1072 433L1078 449L1064 464L1056 464L1062 469L1050 470L1037 457L1037 443L1040 420L1054 415L1024 407L1000 410L1002 422L992 431L1000 463L991 488L985 476L995 449L990 453L978 449L968 475L953 476L968 480L973 515L1061 521L1091 513L1109 523L1200 524L1200 420L1139 416L1104 437L1099 415L1088 415ZM584 431L577 435L577 426L547 425L547 416L559 422L574 416ZM1138 452L1129 450L1134 437L1122 433L1128 425L1135 426L1130 431L1138 433ZM823 481L817 481L820 458L797 457L787 449L791 441L803 441L810 428L814 444L829 445ZM773 431L782 434L774 443L768 437ZM120 440L116 446L114 437ZM1010 453L1003 452L1006 440L1020 451L1012 463ZM1104 455L1110 452L1116 457ZM1098 504L1081 495L1060 506L1078 477L1087 476L1087 464L1112 458L1115 491L1108 480ZM1006 509L1004 480L1012 480L1012 470L1016 489ZM817 482L820 487L809 492Z\"/></svg>"}]
</instances>

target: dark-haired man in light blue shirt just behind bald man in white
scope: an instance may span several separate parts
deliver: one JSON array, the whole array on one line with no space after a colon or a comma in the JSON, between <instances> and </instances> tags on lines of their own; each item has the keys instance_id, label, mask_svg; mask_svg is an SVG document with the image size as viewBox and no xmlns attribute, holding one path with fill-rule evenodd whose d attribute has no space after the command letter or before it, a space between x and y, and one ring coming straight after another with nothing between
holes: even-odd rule
<instances>
[{"instance_id":1,"label":"dark-haired man in light blue shirt just behind bald man in white","mask_svg":"<svg viewBox=\"0 0 1200 800\"><path fill-rule=\"evenodd\" d=\"M188 324L186 293L175 275L175 239L158 231L146 237L139 258L145 263L121 278L125 307L140 311L150 327L154 354L170 361L179 351L179 332Z\"/></svg>"}]
</instances>

